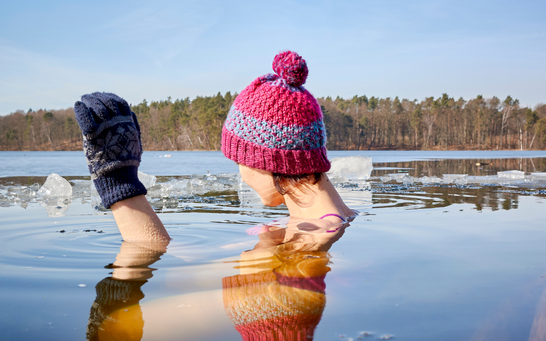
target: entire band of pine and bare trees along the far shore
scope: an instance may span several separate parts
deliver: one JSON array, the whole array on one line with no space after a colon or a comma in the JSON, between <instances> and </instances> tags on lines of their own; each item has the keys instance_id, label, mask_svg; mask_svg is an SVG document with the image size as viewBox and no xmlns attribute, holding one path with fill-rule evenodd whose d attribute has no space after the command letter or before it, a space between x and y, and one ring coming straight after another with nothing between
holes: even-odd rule
<instances>
[{"instance_id":1,"label":"entire band of pine and bare trees along the far shore","mask_svg":"<svg viewBox=\"0 0 546 341\"><path fill-rule=\"evenodd\" d=\"M145 150L219 150L222 124L235 94L132 105ZM318 98L329 150L545 149L546 104L517 99L429 97L423 101L355 96ZM72 108L0 116L2 151L81 150Z\"/></svg>"}]
</instances>

